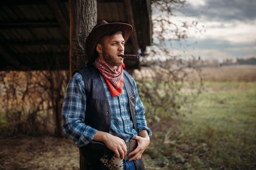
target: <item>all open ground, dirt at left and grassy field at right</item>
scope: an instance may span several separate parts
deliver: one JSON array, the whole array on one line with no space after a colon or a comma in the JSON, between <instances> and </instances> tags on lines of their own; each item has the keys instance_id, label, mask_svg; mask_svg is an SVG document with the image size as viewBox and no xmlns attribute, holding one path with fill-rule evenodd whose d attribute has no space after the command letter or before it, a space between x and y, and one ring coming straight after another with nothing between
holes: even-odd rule
<instances>
[{"instance_id":1,"label":"all open ground, dirt at left and grassy field at right","mask_svg":"<svg viewBox=\"0 0 256 170\"><path fill-rule=\"evenodd\" d=\"M147 170L255 170L256 66L204 68L192 113L150 122ZM1 136L1 170L78 170L69 139Z\"/></svg>"}]
</instances>

